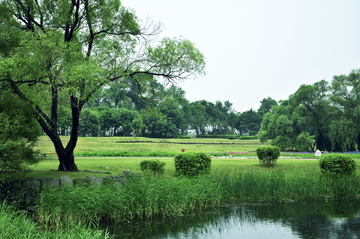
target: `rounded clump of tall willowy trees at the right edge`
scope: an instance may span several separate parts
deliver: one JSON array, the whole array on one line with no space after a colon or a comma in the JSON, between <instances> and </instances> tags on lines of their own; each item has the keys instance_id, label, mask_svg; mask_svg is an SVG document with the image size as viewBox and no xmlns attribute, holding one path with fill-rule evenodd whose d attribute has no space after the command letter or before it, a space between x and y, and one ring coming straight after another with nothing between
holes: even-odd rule
<instances>
[{"instance_id":1,"label":"rounded clump of tall willowy trees at the right edge","mask_svg":"<svg viewBox=\"0 0 360 239\"><path fill-rule=\"evenodd\" d=\"M264 116L259 133L282 150L352 151L360 145L360 71L301 85ZM311 137L313 136L313 137Z\"/></svg>"}]
</instances>

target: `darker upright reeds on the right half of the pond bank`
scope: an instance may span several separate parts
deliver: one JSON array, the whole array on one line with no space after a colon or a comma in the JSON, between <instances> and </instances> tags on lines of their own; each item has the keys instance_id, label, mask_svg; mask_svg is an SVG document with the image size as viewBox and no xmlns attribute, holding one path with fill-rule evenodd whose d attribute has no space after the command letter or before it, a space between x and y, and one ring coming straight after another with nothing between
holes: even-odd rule
<instances>
[{"instance_id":1,"label":"darker upright reeds on the right half of the pond bank","mask_svg":"<svg viewBox=\"0 0 360 239\"><path fill-rule=\"evenodd\" d=\"M214 179L224 190L224 200L289 201L336 197L359 197L359 177L334 179L284 171L219 169Z\"/></svg>"}]
</instances>

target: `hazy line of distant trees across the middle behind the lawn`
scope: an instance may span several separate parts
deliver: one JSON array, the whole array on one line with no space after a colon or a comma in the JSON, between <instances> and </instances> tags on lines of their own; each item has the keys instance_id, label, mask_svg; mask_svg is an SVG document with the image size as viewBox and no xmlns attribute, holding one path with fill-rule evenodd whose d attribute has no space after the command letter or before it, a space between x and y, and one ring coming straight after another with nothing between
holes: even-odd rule
<instances>
[{"instance_id":1,"label":"hazy line of distant trees across the middle behind the lawn","mask_svg":"<svg viewBox=\"0 0 360 239\"><path fill-rule=\"evenodd\" d=\"M144 76L145 77L145 76ZM270 97L261 101L258 111L236 112L229 101L215 103L206 100L190 102L185 91L171 85L166 88L153 78L138 87L131 77L103 87L84 106L80 115L80 136L179 137L195 131L206 134L256 135L264 115L277 105ZM71 111L60 108L58 131L68 135Z\"/></svg>"}]
</instances>

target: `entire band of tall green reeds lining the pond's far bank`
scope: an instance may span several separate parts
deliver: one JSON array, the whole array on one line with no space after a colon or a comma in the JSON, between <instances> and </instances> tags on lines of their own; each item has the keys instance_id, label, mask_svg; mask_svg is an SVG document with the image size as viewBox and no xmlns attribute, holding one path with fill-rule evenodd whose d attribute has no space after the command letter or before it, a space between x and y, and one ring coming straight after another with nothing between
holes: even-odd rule
<instances>
[{"instance_id":1,"label":"entire band of tall green reeds lining the pond's far bank","mask_svg":"<svg viewBox=\"0 0 360 239\"><path fill-rule=\"evenodd\" d=\"M104 235L104 232L93 230L88 225L101 220L120 222L137 218L179 217L228 202L286 202L358 198L359 195L359 177L331 180L319 174L295 174L271 169L244 171L224 166L210 175L195 178L147 175L135 178L121 188L113 184L49 188L39 195L36 210L25 217L31 217L35 226L22 222L18 216L15 218L30 229L45 230L37 233L55 231L64 236L66 233L71 235L74 233L71 230L75 230L76 233ZM11 213L18 212L5 211L1 217L5 215L5 220L13 223L9 219L13 218Z\"/></svg>"}]
</instances>

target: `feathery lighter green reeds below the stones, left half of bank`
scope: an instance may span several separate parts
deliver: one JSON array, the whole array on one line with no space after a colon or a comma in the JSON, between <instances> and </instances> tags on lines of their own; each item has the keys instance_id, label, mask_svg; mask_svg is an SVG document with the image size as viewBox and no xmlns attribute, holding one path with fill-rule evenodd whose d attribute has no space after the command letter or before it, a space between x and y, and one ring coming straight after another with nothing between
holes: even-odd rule
<instances>
[{"instance_id":1,"label":"feathery lighter green reeds below the stones, left half of bank","mask_svg":"<svg viewBox=\"0 0 360 239\"><path fill-rule=\"evenodd\" d=\"M40 223L85 223L154 216L182 216L219 204L222 192L208 176L197 178L147 178L123 187L59 187L44 191L36 220ZM56 213L52 213L56 212Z\"/></svg>"}]
</instances>

